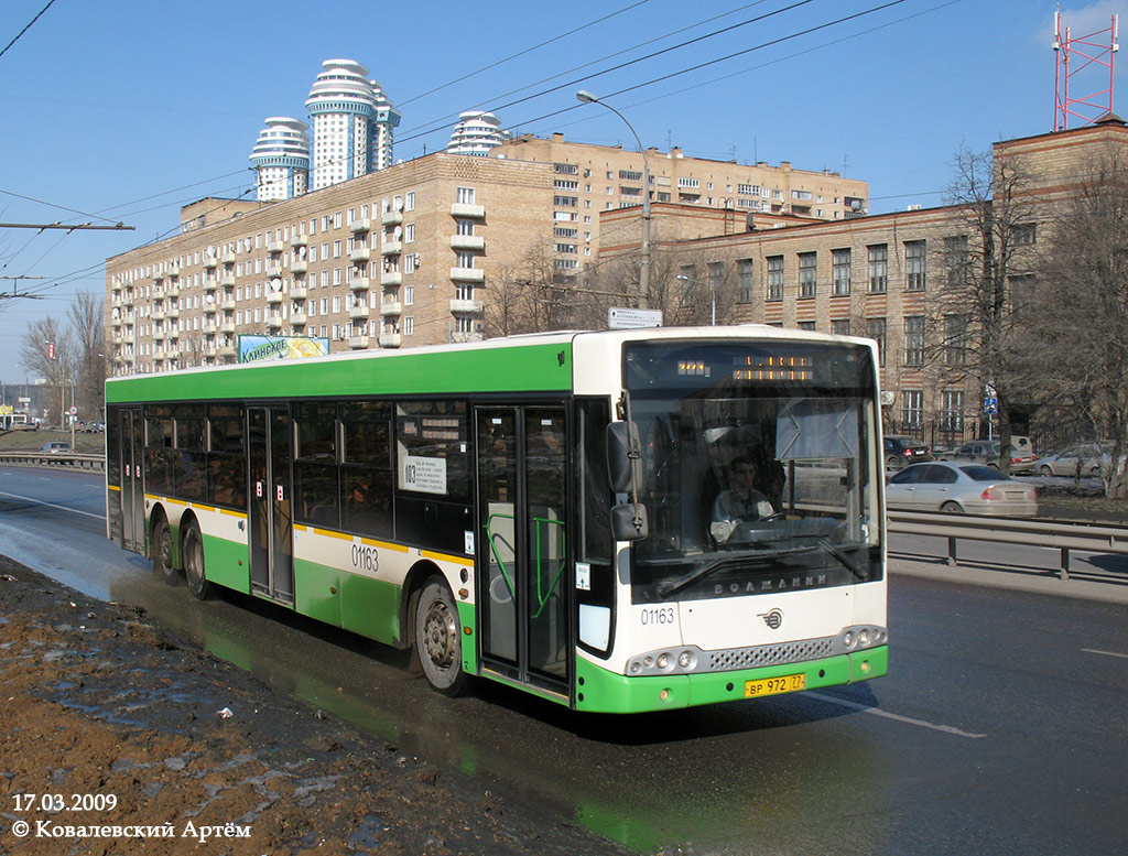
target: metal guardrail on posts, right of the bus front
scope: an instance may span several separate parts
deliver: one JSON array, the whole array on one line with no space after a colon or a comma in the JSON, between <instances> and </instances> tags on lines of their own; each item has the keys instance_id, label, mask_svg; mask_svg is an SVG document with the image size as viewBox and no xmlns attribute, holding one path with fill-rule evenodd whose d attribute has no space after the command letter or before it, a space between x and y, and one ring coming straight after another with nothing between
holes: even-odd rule
<instances>
[{"instance_id":1,"label":"metal guardrail on posts, right of the bus front","mask_svg":"<svg viewBox=\"0 0 1128 856\"><path fill-rule=\"evenodd\" d=\"M948 564L957 565L955 542L995 541L1046 547L1061 551L1063 580L1069 579L1069 554L1116 553L1128 555L1128 527L1111 523L1061 522L1015 518L987 518L970 514L942 514L926 511L888 512L889 531L929 535L948 539Z\"/></svg>"}]
</instances>

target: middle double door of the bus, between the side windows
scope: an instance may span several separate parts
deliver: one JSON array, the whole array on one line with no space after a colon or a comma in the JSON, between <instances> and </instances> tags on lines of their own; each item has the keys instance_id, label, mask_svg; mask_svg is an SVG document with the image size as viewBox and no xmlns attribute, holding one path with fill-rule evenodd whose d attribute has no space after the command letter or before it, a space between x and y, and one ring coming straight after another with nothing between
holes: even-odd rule
<instances>
[{"instance_id":1,"label":"middle double door of the bus, between the side windows","mask_svg":"<svg viewBox=\"0 0 1128 856\"><path fill-rule=\"evenodd\" d=\"M285 407L247 407L247 447L250 591L293 605L290 412Z\"/></svg>"}]
</instances>

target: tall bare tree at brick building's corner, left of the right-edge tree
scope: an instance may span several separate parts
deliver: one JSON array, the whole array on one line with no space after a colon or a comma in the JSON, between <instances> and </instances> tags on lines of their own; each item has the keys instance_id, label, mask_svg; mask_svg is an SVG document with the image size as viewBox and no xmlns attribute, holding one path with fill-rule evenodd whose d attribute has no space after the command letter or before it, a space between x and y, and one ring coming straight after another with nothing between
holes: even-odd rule
<instances>
[{"instance_id":1,"label":"tall bare tree at brick building's corner, left of the right-edge tree","mask_svg":"<svg viewBox=\"0 0 1128 856\"><path fill-rule=\"evenodd\" d=\"M967 230L945 241L944 275L932 302L929 363L951 381L976 380L997 401L999 468L1010 471L1014 403L1029 392L1023 354L1029 338L1019 323L1011 281L1032 267L1030 230L1038 201L1016 156L960 150L949 202L959 208ZM938 317L936 317L938 316Z\"/></svg>"}]
</instances>

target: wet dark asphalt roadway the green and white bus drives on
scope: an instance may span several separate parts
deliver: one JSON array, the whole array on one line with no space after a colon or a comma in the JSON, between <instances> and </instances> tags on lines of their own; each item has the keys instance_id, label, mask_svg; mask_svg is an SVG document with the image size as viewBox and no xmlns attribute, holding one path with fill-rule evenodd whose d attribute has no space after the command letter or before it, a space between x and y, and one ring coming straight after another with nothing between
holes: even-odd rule
<instances>
[{"instance_id":1,"label":"wet dark asphalt roadway the green and white bus drives on","mask_svg":"<svg viewBox=\"0 0 1128 856\"><path fill-rule=\"evenodd\" d=\"M0 554L141 606L279 689L644 853L1128 853L1128 605L898 573L890 674L641 717L493 685L245 598L195 603L105 540L102 482L0 469ZM902 541L897 555L911 545ZM919 568L918 568L919 570Z\"/></svg>"}]
</instances>

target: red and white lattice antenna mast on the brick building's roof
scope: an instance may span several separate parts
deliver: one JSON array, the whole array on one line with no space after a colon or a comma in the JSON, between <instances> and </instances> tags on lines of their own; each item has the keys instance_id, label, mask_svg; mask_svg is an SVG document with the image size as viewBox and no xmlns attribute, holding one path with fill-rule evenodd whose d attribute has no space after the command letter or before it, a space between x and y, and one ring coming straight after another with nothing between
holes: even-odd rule
<instances>
[{"instance_id":1,"label":"red and white lattice antenna mast on the brick building's roof","mask_svg":"<svg viewBox=\"0 0 1128 856\"><path fill-rule=\"evenodd\" d=\"M1054 130L1066 131L1069 117L1081 120L1082 125L1091 124L1112 112L1113 60L1120 44L1117 42L1117 16L1112 26L1085 36L1074 37L1069 28L1061 34L1061 12L1054 12ZM1098 41L1101 39L1101 41ZM1108 87L1083 96L1070 95L1073 78L1089 72L1089 78L1104 80L1108 69Z\"/></svg>"}]
</instances>

